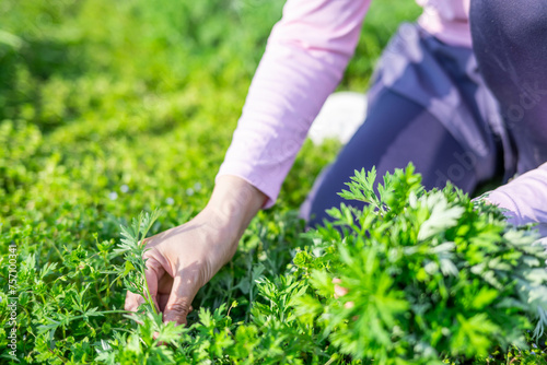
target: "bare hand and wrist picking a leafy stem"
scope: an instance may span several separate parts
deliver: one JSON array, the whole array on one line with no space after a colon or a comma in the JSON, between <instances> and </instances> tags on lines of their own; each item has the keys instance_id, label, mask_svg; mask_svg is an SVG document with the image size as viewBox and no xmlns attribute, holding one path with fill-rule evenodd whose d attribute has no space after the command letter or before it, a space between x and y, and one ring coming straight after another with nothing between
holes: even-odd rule
<instances>
[{"instance_id":1,"label":"bare hand and wrist picking a leafy stem","mask_svg":"<svg viewBox=\"0 0 547 365\"><path fill-rule=\"evenodd\" d=\"M147 282L163 320L186 323L198 290L230 261L266 196L235 176L219 178L209 203L188 223L147 239ZM125 309L144 299L128 292Z\"/></svg>"}]
</instances>

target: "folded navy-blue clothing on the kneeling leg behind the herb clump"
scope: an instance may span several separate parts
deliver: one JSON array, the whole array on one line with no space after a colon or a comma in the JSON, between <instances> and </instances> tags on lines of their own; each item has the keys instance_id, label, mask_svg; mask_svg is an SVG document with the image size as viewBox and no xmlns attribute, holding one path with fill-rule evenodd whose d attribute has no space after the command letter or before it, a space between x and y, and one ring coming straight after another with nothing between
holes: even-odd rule
<instances>
[{"instance_id":1,"label":"folded navy-blue clothing on the kneeling leg behind the herb clump","mask_svg":"<svg viewBox=\"0 0 547 365\"><path fill-rule=\"evenodd\" d=\"M368 96L364 123L310 193L310 226L340 205L337 192L354 169L375 166L381 178L412 162L428 189L451 180L467 192L503 170L509 139L472 49L404 24L384 50Z\"/></svg>"}]
</instances>

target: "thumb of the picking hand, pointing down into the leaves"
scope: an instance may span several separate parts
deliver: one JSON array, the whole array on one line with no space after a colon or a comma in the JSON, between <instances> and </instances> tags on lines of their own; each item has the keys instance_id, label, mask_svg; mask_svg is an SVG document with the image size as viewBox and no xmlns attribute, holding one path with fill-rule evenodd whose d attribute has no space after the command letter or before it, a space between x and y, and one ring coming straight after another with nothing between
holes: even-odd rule
<instances>
[{"instance_id":1,"label":"thumb of the picking hand, pointing down into the leaves","mask_svg":"<svg viewBox=\"0 0 547 365\"><path fill-rule=\"evenodd\" d=\"M191 310L191 301L194 301L198 290L195 280L184 273L175 275L170 298L163 313L163 321L186 325L186 316Z\"/></svg>"}]
</instances>

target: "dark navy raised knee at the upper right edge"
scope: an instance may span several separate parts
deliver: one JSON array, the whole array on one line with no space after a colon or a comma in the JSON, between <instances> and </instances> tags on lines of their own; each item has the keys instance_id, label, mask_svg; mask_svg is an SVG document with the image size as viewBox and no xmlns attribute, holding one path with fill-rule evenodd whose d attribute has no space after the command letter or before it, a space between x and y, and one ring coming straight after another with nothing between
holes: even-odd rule
<instances>
[{"instance_id":1,"label":"dark navy raised knee at the upper right edge","mask_svg":"<svg viewBox=\"0 0 547 365\"><path fill-rule=\"evenodd\" d=\"M547 161L547 1L473 0L475 55L500 104L520 174Z\"/></svg>"}]
</instances>

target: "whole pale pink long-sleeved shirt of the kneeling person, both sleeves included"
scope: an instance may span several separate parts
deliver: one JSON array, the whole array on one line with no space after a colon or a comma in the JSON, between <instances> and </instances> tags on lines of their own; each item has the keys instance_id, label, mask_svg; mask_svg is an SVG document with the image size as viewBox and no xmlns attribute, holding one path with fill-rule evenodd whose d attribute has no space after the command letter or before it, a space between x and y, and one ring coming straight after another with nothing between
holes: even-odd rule
<instances>
[{"instance_id":1,"label":"whole pale pink long-sleeved shirt of the kneeling person, both sleeves included","mask_svg":"<svg viewBox=\"0 0 547 365\"><path fill-rule=\"evenodd\" d=\"M422 28L444 43L472 46L469 0L417 2L424 9L418 20ZM264 208L274 205L312 121L353 56L369 4L370 0L287 2L217 178L238 176L268 196ZM498 189L490 200L515 212L517 223L547 222L546 176L547 164ZM528 195L514 198L522 186Z\"/></svg>"}]
</instances>

